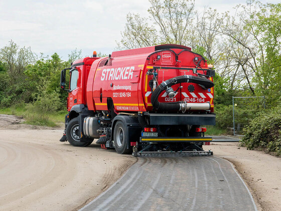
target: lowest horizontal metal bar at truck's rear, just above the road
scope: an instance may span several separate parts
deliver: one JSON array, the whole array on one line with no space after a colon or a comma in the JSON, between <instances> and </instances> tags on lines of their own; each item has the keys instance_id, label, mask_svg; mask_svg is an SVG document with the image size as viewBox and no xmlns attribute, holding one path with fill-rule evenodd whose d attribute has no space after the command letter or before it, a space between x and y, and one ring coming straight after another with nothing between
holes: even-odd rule
<instances>
[{"instance_id":1,"label":"lowest horizontal metal bar at truck's rear, just above the road","mask_svg":"<svg viewBox=\"0 0 281 211\"><path fill-rule=\"evenodd\" d=\"M133 152L133 156L139 157L191 157L191 156L212 156L212 151L171 151L171 152Z\"/></svg>"}]
</instances>

